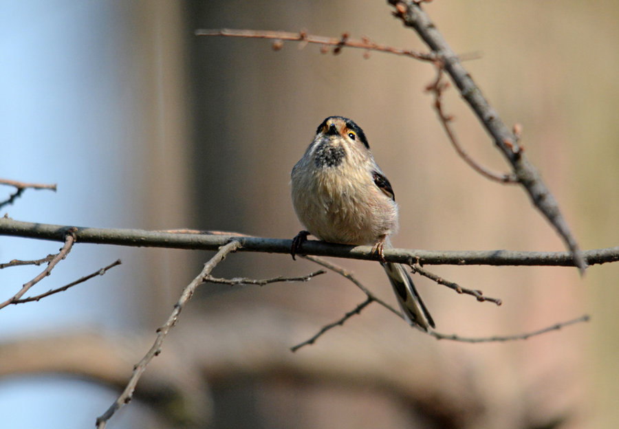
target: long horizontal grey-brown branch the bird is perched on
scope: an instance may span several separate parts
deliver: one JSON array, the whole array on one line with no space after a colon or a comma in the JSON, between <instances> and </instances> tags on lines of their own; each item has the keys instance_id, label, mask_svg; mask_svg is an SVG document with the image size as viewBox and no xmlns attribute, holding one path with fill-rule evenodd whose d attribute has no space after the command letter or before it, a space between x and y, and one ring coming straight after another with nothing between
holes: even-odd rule
<instances>
[{"instance_id":1,"label":"long horizontal grey-brown branch the bird is perched on","mask_svg":"<svg viewBox=\"0 0 619 429\"><path fill-rule=\"evenodd\" d=\"M64 241L69 225L50 225L0 219L0 235L21 236L31 239ZM239 251L290 253L292 240L268 239L239 234L184 234L149 230L76 227L77 243L113 244L132 247L171 248L192 250L217 250L235 239L241 243ZM308 240L301 247L301 254L336 256L348 259L376 261L371 246L350 246ZM589 265L619 261L619 246L583 252ZM385 249L384 258L389 262L418 263L420 265L554 265L573 267L569 252L512 252L509 250L406 250Z\"/></svg>"}]
</instances>

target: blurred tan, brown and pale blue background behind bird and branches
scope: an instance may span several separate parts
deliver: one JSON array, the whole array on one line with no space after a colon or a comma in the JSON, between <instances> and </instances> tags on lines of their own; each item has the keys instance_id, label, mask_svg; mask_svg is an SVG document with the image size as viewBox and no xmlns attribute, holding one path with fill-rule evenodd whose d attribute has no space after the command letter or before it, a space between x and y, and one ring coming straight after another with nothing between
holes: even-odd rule
<instances>
[{"instance_id":1,"label":"blurred tan, brown and pale blue background behind bird and branches","mask_svg":"<svg viewBox=\"0 0 619 429\"><path fill-rule=\"evenodd\" d=\"M583 249L619 244L619 5L466 1L424 5L521 142ZM424 87L431 65L316 45L194 36L199 28L298 31L424 51L385 1L7 1L0 4L0 177L57 183L4 208L14 219L110 228L230 230L292 238L290 170L328 115L364 129L400 204L400 248L563 250L523 190L457 157ZM466 151L506 163L461 102L446 111ZM12 189L0 190L8 197ZM4 213L1 213L4 214ZM0 237L0 262L61 243ZM180 290L212 252L77 245L32 289L120 258L105 276L0 311L6 427L93 426L127 382ZM395 303L378 264L341 260ZM437 342L325 274L266 287L204 285L111 428L612 428L619 419L619 265L426 267L503 300L477 303L415 278L437 330L532 331L527 341ZM235 254L217 276L317 270ZM41 267L0 272L2 300Z\"/></svg>"}]
</instances>

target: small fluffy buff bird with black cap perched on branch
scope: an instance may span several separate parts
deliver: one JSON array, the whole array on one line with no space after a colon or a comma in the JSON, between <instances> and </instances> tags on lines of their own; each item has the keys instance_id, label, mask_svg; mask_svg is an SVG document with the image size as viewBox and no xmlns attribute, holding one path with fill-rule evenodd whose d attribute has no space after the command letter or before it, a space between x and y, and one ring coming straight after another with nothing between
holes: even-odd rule
<instances>
[{"instance_id":1,"label":"small fluffy buff bird with black cap perched on branch","mask_svg":"<svg viewBox=\"0 0 619 429\"><path fill-rule=\"evenodd\" d=\"M424 331L435 327L404 266L384 261L383 248L391 247L389 236L398 230L398 205L355 122L329 116L318 125L314 141L292 168L292 205L307 229L293 240L293 258L309 234L330 243L372 245L404 319Z\"/></svg>"}]
</instances>

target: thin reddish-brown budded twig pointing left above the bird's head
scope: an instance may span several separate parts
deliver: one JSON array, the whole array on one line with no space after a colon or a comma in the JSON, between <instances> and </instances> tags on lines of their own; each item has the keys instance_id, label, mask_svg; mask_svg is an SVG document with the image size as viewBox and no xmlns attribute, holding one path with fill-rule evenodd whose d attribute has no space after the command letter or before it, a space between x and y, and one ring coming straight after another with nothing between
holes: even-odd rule
<instances>
[{"instance_id":1,"label":"thin reddish-brown budded twig pointing left above the bird's head","mask_svg":"<svg viewBox=\"0 0 619 429\"><path fill-rule=\"evenodd\" d=\"M229 36L229 37L244 37L248 39L270 39L274 41L274 49L281 49L282 41L297 41L303 43L317 43L323 46L322 52L327 52L324 47L333 46L333 53L338 54L343 46L356 47L366 51L379 51L389 52L390 54L409 56L417 60L433 61L435 56L432 54L424 54L422 52L415 52L413 50L405 50L399 47L391 47L375 43L369 40L367 37L362 39L350 39L347 33L342 34L340 37L325 37L314 36L313 34L307 34L305 31L298 33L283 32L283 31L263 31L263 30L233 30L229 28L221 28L215 30L196 30L196 36Z\"/></svg>"}]
</instances>

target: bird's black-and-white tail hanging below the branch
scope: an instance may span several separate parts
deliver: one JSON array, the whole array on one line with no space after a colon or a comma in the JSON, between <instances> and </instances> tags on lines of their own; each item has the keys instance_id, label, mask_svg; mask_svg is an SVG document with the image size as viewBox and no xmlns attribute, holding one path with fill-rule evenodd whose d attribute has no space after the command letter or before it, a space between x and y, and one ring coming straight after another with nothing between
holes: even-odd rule
<instances>
[{"instance_id":1,"label":"bird's black-and-white tail hanging below the branch","mask_svg":"<svg viewBox=\"0 0 619 429\"><path fill-rule=\"evenodd\" d=\"M389 276L389 281L391 281L406 322L409 322L411 326L417 325L426 332L428 327L434 328L434 320L421 297L417 294L417 289L413 285L411 276L404 269L404 265L387 262L383 263L382 267Z\"/></svg>"}]
</instances>

